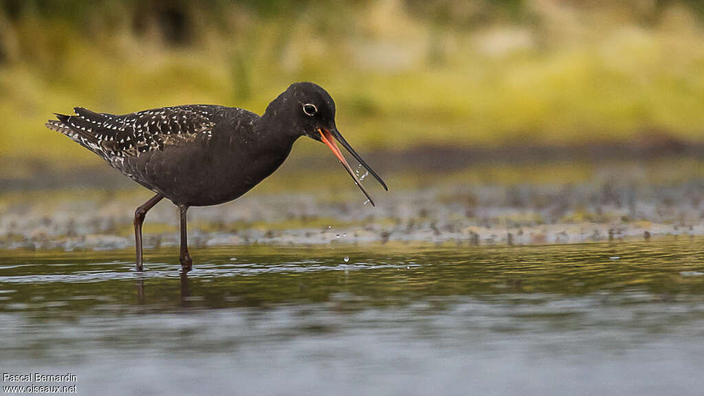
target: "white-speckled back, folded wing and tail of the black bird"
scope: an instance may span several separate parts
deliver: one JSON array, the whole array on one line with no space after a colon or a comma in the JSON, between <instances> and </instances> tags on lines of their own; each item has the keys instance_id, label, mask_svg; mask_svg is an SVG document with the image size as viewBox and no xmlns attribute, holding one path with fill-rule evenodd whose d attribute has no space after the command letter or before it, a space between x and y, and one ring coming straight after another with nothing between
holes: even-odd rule
<instances>
[{"instance_id":1,"label":"white-speckled back, folded wing and tail of the black bird","mask_svg":"<svg viewBox=\"0 0 704 396\"><path fill-rule=\"evenodd\" d=\"M214 135L246 134L259 118L255 113L215 105L172 106L113 115L77 107L74 116L57 114L46 127L70 137L98 154L113 168L155 192L177 201L175 174L184 161L206 152ZM235 136L234 138L236 138ZM222 140L220 140L222 142ZM192 173L192 172L191 172ZM174 176L176 177L176 175Z\"/></svg>"}]
</instances>

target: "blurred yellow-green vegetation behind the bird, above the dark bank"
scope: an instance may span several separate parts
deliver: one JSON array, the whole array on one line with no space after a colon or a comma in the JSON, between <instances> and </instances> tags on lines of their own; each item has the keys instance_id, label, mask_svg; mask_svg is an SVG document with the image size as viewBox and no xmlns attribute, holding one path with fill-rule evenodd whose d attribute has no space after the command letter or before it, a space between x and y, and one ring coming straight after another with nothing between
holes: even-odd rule
<instances>
[{"instance_id":1,"label":"blurred yellow-green vegetation behind the bird, above the dark bank","mask_svg":"<svg viewBox=\"0 0 704 396\"><path fill-rule=\"evenodd\" d=\"M0 0L0 157L100 163L44 128L74 106L261 113L300 80L328 89L339 127L363 151L704 143L702 10L696 1Z\"/></svg>"}]
</instances>

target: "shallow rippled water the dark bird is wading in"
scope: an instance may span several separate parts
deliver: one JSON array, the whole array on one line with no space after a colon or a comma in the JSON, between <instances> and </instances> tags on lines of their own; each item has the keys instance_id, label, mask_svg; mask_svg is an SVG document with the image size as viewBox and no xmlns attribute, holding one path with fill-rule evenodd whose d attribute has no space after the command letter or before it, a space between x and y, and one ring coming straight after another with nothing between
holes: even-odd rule
<instances>
[{"instance_id":1,"label":"shallow rippled water the dark bird is wading in","mask_svg":"<svg viewBox=\"0 0 704 396\"><path fill-rule=\"evenodd\" d=\"M83 395L701 395L702 242L194 249L187 277L2 251L0 361Z\"/></svg>"}]
</instances>

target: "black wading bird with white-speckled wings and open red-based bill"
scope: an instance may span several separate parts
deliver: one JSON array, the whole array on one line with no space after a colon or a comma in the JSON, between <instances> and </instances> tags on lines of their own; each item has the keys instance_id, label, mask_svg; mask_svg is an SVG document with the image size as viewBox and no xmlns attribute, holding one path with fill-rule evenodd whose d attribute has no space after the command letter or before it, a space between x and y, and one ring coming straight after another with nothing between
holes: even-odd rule
<instances>
[{"instance_id":1,"label":"black wading bird with white-speckled wings and open red-based bill","mask_svg":"<svg viewBox=\"0 0 704 396\"><path fill-rule=\"evenodd\" d=\"M335 103L313 82L291 84L261 116L236 107L184 105L114 115L76 107L71 116L54 113L45 124L93 151L140 185L156 193L134 211L136 271L143 271L142 224L146 213L169 199L180 214L183 273L191 271L187 211L241 197L289 156L299 137L322 142L342 163L369 202L374 201L341 153L339 142L388 191L384 180L342 137Z\"/></svg>"}]
</instances>

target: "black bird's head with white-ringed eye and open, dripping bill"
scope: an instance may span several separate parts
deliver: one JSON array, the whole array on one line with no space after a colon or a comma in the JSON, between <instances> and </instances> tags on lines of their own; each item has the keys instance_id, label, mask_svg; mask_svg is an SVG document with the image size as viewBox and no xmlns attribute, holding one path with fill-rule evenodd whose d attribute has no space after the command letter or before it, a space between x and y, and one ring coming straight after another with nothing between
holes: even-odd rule
<instances>
[{"instance_id":1,"label":"black bird's head with white-ringed eye and open, dripping bill","mask_svg":"<svg viewBox=\"0 0 704 396\"><path fill-rule=\"evenodd\" d=\"M349 151L349 153L381 183L384 190L389 190L384 180L367 165L362 157L357 154L357 151L354 151L350 144L342 137L339 130L337 130L337 125L335 125L335 102L325 89L322 89L322 87L312 82L297 82L296 84L292 84L276 101L272 102L272 105L277 101L279 103L275 107L280 108L279 111L287 113L286 118L293 120L292 124L294 130L292 132L296 133L298 136L305 135L313 140L325 143L335 156L337 156L337 159L339 159L347 172L352 176L372 205L374 201L367 193L367 190L365 190L356 173L347 163L345 157L337 147L336 141L342 144L342 147ZM270 110L267 109L267 113L269 113L269 111Z\"/></svg>"}]
</instances>

